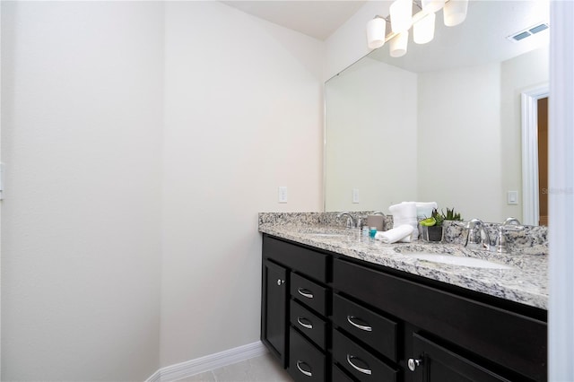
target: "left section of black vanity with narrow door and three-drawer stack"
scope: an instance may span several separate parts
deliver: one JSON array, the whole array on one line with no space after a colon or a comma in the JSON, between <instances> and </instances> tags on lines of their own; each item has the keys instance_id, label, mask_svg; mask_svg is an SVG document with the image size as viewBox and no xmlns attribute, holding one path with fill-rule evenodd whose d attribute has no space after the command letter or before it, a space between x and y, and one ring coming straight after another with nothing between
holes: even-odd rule
<instances>
[{"instance_id":1,"label":"left section of black vanity with narrow door and three-drawer stack","mask_svg":"<svg viewBox=\"0 0 574 382\"><path fill-rule=\"evenodd\" d=\"M297 381L328 381L329 256L268 236L263 241L261 341Z\"/></svg>"}]
</instances>

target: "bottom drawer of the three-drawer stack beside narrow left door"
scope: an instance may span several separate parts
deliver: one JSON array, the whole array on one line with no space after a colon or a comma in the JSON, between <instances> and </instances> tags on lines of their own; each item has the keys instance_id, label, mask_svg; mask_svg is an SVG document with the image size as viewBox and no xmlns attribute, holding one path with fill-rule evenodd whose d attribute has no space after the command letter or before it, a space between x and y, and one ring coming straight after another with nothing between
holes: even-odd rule
<instances>
[{"instance_id":1,"label":"bottom drawer of the three-drawer stack beside narrow left door","mask_svg":"<svg viewBox=\"0 0 574 382\"><path fill-rule=\"evenodd\" d=\"M289 328L289 374L295 381L318 382L326 380L325 354L319 352L292 327Z\"/></svg>"}]
</instances>

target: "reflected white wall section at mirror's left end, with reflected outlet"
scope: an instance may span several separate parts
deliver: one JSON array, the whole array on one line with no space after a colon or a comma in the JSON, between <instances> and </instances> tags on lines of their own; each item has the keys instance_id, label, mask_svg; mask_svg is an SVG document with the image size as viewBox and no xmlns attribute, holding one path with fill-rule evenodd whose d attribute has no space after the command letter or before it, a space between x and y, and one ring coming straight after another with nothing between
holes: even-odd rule
<instances>
[{"instance_id":1,"label":"reflected white wall section at mirror's left end, with reflected outlet","mask_svg":"<svg viewBox=\"0 0 574 382\"><path fill-rule=\"evenodd\" d=\"M364 58L326 86L326 210L416 200L417 74ZM352 203L352 189L359 203Z\"/></svg>"}]
</instances>

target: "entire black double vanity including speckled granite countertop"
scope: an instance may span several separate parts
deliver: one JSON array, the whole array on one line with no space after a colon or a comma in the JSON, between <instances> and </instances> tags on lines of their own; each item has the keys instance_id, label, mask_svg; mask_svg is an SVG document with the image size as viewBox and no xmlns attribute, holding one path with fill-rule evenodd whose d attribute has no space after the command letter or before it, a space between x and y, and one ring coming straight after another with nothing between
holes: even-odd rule
<instances>
[{"instance_id":1,"label":"entire black double vanity including speckled granite countertop","mask_svg":"<svg viewBox=\"0 0 574 382\"><path fill-rule=\"evenodd\" d=\"M547 380L545 238L498 254L462 230L383 244L329 213L261 213L262 342L296 381Z\"/></svg>"}]
</instances>

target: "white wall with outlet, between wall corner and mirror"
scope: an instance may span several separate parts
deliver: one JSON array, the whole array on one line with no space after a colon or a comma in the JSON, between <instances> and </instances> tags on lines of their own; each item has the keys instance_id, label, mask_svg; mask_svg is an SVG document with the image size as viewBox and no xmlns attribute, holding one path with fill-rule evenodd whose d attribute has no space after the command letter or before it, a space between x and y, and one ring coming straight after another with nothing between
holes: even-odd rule
<instances>
[{"instance_id":1,"label":"white wall with outlet, between wall corner and mirror","mask_svg":"<svg viewBox=\"0 0 574 382\"><path fill-rule=\"evenodd\" d=\"M161 366L258 340L257 213L321 208L324 52L219 3L165 17Z\"/></svg>"}]
</instances>

